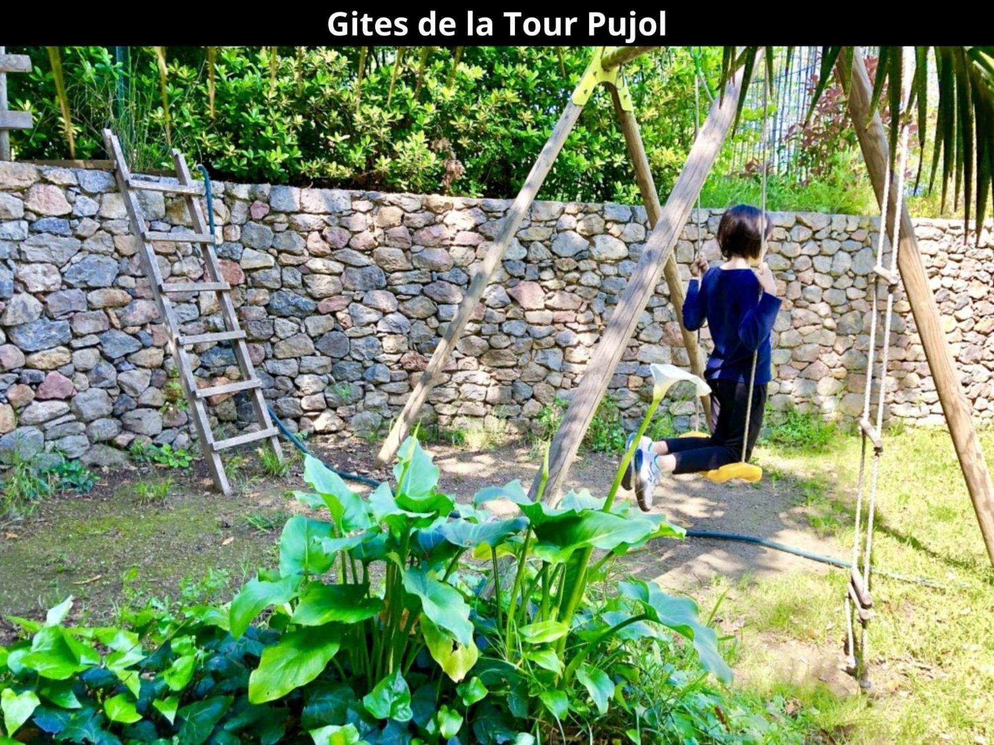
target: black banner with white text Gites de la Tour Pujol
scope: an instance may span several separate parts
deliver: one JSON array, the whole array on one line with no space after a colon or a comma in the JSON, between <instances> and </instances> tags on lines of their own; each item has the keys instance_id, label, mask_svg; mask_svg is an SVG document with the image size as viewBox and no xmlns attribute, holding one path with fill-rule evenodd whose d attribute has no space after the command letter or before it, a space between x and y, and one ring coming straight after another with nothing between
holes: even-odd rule
<instances>
[{"instance_id":1,"label":"black banner with white text Gites de la Tour Pujol","mask_svg":"<svg viewBox=\"0 0 994 745\"><path fill-rule=\"evenodd\" d=\"M147 3L100 7L53 24L37 9L7 3L0 41L11 45L218 46L622 46L902 45L991 42L990 11L971 10L968 26L922 23L884 3L659 3L584 8L576 3L494 2L260 4L217 3L187 14ZM30 9L28 9L30 8ZM900 17L895 18L896 15Z\"/></svg>"}]
</instances>

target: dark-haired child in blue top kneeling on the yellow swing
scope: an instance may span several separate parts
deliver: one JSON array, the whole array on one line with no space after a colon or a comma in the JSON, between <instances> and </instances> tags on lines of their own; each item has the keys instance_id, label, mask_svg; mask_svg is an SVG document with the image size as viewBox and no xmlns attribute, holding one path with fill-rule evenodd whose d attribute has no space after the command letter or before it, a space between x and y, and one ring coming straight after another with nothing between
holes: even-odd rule
<instances>
[{"instance_id":1,"label":"dark-haired child in blue top kneeling on the yellow swing","mask_svg":"<svg viewBox=\"0 0 994 745\"><path fill-rule=\"evenodd\" d=\"M695 331L707 321L711 328L715 350L704 375L711 386L712 434L660 442L642 438L623 484L626 489L634 486L642 510L652 507L661 474L710 471L742 459L752 356L757 354L746 460L751 455L770 377L769 333L780 309L773 274L765 262L760 263L760 229L768 238L772 229L768 214L763 216L749 205L732 208L718 225L725 263L709 269L707 259L699 255L691 265L694 278L684 301L684 326ZM628 438L629 445L634 436Z\"/></svg>"}]
</instances>

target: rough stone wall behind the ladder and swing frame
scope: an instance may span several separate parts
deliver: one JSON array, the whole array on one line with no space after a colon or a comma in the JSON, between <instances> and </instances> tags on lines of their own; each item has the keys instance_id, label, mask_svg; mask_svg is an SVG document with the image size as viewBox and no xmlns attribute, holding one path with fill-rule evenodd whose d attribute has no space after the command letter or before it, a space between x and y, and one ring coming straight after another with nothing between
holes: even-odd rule
<instances>
[{"instance_id":1,"label":"rough stone wall behind the ladder and swing frame","mask_svg":"<svg viewBox=\"0 0 994 745\"><path fill-rule=\"evenodd\" d=\"M224 274L264 392L292 427L382 432L403 405L509 203L215 183ZM142 193L152 229L183 229L182 201ZM698 229L676 247L681 271ZM875 220L778 214L769 262L785 297L774 339L774 408L861 408ZM994 369L994 240L962 240L957 222L918 221L945 329L976 414L989 418ZM631 274L645 213L624 205L538 203L508 250L425 415L446 426L483 420L527 429L569 395ZM713 244L707 245L713 252ZM189 244L156 245L169 280L199 278ZM112 174L0 164L0 453L59 449L114 463L136 438L190 442L166 336L140 269ZM612 380L628 415L643 405L648 365L687 365L661 283ZM223 328L213 295L177 297L186 334ZM940 420L934 386L899 297L892 337L894 414ZM704 332L707 346L707 330ZM225 346L193 349L204 384L235 379ZM216 430L234 433L248 397L212 400ZM673 401L686 417L689 401Z\"/></svg>"}]
</instances>

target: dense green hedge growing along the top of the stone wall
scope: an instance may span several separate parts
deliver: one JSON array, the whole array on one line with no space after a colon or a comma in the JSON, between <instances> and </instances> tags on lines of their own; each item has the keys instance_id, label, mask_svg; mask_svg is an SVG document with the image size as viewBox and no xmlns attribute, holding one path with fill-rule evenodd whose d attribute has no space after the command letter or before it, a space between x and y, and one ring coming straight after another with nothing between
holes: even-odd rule
<instances>
[{"instance_id":1,"label":"dense green hedge growing along the top of the stone wall","mask_svg":"<svg viewBox=\"0 0 994 745\"><path fill-rule=\"evenodd\" d=\"M171 169L155 54L129 50L129 62L118 64L103 47L62 48L76 157L104 157L100 130L111 126L132 170ZM46 49L7 51L34 64L31 74L10 77L11 108L35 115L33 129L12 133L17 157L68 158ZM169 47L172 144L226 180L513 197L589 61L587 48L560 52L562 71L548 47L465 47L452 75L453 51L432 48L418 87L420 55L409 49L390 95L396 49L370 48L360 98L357 47L281 47L274 85L269 49L219 48L212 115L207 49ZM716 78L721 51L701 57ZM666 193L694 136L691 55L671 48L629 64L626 74ZM616 118L610 96L591 98L544 199L640 202Z\"/></svg>"}]
</instances>

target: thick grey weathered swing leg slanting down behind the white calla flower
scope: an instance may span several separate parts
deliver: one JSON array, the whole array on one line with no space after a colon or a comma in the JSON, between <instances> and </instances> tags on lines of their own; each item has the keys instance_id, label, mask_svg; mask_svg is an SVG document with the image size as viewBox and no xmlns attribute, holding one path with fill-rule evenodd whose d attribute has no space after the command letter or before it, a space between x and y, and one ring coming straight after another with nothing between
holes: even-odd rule
<instances>
[{"instance_id":1,"label":"thick grey weathered swing leg slanting down behind the white calla flower","mask_svg":"<svg viewBox=\"0 0 994 745\"><path fill-rule=\"evenodd\" d=\"M558 499L583 433L590 425L597 405L607 390L607 384L628 346L628 340L635 331L642 309L655 291L659 274L670 257L677 237L690 217L694 201L732 128L742 78L743 70L740 69L729 82L724 100L716 100L712 105L708 119L694 141L687 163L680 172L680 178L666 200L666 207L645 243L638 265L593 350L593 356L580 379L580 385L556 432L549 453L549 483L545 493L550 501ZM533 499L540 479L541 475L532 483Z\"/></svg>"}]
</instances>

